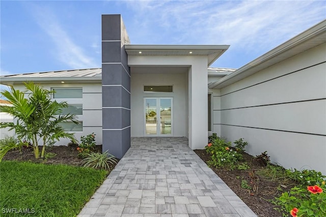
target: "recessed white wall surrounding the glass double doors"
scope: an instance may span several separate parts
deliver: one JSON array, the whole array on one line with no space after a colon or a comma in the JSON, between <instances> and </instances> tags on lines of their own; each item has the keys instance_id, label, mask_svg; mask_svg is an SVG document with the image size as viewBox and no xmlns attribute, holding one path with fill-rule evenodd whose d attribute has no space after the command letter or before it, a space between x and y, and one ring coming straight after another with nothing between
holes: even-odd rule
<instances>
[{"instance_id":1,"label":"recessed white wall surrounding the glass double doors","mask_svg":"<svg viewBox=\"0 0 326 217\"><path fill-rule=\"evenodd\" d=\"M188 137L187 74L131 74L131 137L146 137L144 97L173 97L174 137ZM173 93L144 93L144 85L173 85Z\"/></svg>"}]
</instances>

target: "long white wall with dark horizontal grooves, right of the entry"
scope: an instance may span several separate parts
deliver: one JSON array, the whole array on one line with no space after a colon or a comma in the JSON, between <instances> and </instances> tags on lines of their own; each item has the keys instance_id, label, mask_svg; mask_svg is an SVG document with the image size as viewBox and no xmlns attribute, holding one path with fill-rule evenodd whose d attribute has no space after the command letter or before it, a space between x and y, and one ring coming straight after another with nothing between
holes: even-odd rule
<instances>
[{"instance_id":1,"label":"long white wall with dark horizontal grooves, right of the entry","mask_svg":"<svg viewBox=\"0 0 326 217\"><path fill-rule=\"evenodd\" d=\"M221 89L222 137L244 138L247 152L267 151L285 168L326 174L325 50L321 44Z\"/></svg>"}]
</instances>

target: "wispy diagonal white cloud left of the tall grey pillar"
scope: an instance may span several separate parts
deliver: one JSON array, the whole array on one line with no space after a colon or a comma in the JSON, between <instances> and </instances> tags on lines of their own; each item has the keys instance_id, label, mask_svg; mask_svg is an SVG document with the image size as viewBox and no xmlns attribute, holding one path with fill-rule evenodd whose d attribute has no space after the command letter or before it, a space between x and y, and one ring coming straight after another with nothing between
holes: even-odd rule
<instances>
[{"instance_id":1,"label":"wispy diagonal white cloud left of the tall grey pillar","mask_svg":"<svg viewBox=\"0 0 326 217\"><path fill-rule=\"evenodd\" d=\"M84 49L73 42L51 10L38 5L34 5L32 8L37 23L54 42L53 55L55 58L71 68L97 67L94 59L87 56ZM49 49L51 48L49 47Z\"/></svg>"}]
</instances>

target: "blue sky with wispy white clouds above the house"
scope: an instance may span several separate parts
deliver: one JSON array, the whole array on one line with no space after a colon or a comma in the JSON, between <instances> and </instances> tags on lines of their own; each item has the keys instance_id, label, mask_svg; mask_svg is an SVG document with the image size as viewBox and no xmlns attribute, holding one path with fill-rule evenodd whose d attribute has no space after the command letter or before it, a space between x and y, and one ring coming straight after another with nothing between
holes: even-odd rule
<instances>
[{"instance_id":1,"label":"blue sky with wispy white clouds above the house","mask_svg":"<svg viewBox=\"0 0 326 217\"><path fill-rule=\"evenodd\" d=\"M326 1L1 1L1 75L101 67L101 14L131 44L228 44L239 68L326 18Z\"/></svg>"}]
</instances>

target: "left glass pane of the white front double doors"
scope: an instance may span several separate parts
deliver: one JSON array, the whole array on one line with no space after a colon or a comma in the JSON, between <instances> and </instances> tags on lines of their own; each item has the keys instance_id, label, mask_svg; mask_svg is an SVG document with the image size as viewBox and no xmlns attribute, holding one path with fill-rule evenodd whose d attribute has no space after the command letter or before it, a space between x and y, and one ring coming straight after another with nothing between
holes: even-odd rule
<instances>
[{"instance_id":1,"label":"left glass pane of the white front double doors","mask_svg":"<svg viewBox=\"0 0 326 217\"><path fill-rule=\"evenodd\" d=\"M145 131L146 134L157 134L156 98L145 99Z\"/></svg>"}]
</instances>

